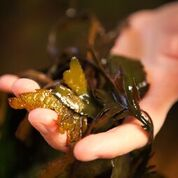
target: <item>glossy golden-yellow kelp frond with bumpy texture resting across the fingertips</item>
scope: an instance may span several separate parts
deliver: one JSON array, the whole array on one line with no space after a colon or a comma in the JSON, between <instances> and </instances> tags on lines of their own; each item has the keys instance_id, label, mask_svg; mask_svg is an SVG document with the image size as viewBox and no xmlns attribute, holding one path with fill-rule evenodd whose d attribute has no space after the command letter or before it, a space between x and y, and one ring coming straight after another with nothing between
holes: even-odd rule
<instances>
[{"instance_id":1,"label":"glossy golden-yellow kelp frond with bumpy texture resting across the fingertips","mask_svg":"<svg viewBox=\"0 0 178 178\"><path fill-rule=\"evenodd\" d=\"M77 59L71 60L70 70L65 71L63 79L77 95L87 94L85 75ZM54 90L37 89L36 92L9 98L9 104L14 109L30 111L35 108L48 108L56 111L59 116L57 121L59 132L67 132L67 140L70 143L82 137L87 128L87 119L83 115L90 115L84 112L88 107L88 101L80 99L73 91L63 85L57 85Z\"/></svg>"}]
</instances>

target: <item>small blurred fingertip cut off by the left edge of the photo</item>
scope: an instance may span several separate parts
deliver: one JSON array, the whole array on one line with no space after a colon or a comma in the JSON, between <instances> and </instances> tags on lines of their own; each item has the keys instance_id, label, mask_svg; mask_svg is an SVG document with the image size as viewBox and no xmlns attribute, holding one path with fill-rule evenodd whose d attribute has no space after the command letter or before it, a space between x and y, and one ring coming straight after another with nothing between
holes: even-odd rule
<instances>
[{"instance_id":1,"label":"small blurred fingertip cut off by the left edge of the photo","mask_svg":"<svg viewBox=\"0 0 178 178\"><path fill-rule=\"evenodd\" d=\"M6 74L0 77L0 90L4 92L12 92L12 85L17 81L16 75Z\"/></svg>"}]
</instances>

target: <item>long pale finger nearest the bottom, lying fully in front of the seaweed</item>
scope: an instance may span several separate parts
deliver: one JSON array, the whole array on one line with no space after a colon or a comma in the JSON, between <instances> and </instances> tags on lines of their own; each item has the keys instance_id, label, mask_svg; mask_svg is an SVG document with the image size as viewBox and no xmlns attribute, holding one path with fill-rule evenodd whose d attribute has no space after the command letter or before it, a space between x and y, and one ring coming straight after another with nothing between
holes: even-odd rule
<instances>
[{"instance_id":1,"label":"long pale finger nearest the bottom, lying fully in front of the seaweed","mask_svg":"<svg viewBox=\"0 0 178 178\"><path fill-rule=\"evenodd\" d=\"M107 132L92 134L79 141L74 155L81 161L114 158L142 147L147 137L136 124L125 123Z\"/></svg>"}]
</instances>

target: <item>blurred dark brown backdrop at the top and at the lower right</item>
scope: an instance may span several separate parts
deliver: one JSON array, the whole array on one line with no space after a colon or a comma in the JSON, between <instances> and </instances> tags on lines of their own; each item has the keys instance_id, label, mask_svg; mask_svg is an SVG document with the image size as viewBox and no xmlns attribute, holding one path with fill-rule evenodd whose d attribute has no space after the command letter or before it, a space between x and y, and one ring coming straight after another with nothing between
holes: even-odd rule
<instances>
[{"instance_id":1,"label":"blurred dark brown backdrop at the top and at the lower right","mask_svg":"<svg viewBox=\"0 0 178 178\"><path fill-rule=\"evenodd\" d=\"M74 2L74 1L73 1ZM94 12L111 28L129 14L158 7L169 0L78 0L78 10ZM29 68L44 68L50 64L46 51L48 34L56 21L69 7L67 0L1 0L0 1L0 75ZM157 136L154 145L156 163L169 178L178 175L178 107ZM1 158L0 158L1 161Z\"/></svg>"}]
</instances>

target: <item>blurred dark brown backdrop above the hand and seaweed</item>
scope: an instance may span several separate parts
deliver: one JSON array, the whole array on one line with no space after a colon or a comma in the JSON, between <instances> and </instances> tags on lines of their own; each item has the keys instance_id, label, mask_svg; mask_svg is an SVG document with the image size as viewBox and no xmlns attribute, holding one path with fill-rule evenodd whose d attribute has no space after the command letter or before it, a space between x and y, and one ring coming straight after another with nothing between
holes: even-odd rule
<instances>
[{"instance_id":1,"label":"blurred dark brown backdrop above the hand and seaweed","mask_svg":"<svg viewBox=\"0 0 178 178\"><path fill-rule=\"evenodd\" d=\"M75 2L76 0L74 0ZM168 0L78 0L78 9L97 14L109 27L130 13L155 8ZM69 6L68 0L0 1L0 74L49 64L50 29Z\"/></svg>"}]
</instances>

